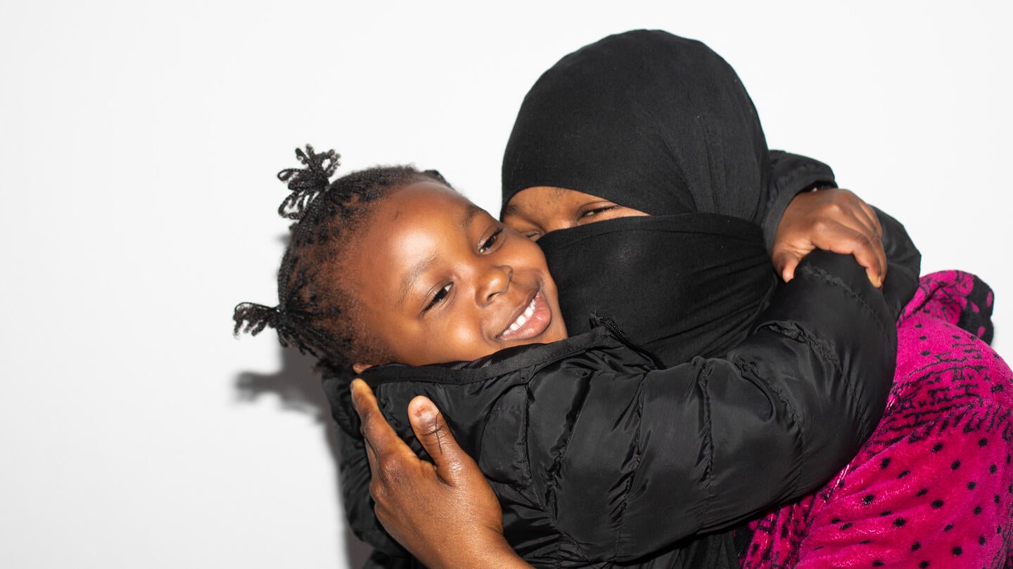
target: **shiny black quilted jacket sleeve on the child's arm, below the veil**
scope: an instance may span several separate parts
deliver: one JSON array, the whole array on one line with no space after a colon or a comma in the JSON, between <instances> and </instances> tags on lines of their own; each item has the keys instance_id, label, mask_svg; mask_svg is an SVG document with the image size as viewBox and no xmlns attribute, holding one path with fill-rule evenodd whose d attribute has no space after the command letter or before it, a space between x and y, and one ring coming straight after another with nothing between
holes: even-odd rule
<instances>
[{"instance_id":1,"label":"shiny black quilted jacket sleeve on the child's arm, below the veil","mask_svg":"<svg viewBox=\"0 0 1013 569\"><path fill-rule=\"evenodd\" d=\"M853 259L816 251L725 359L569 388L546 378L532 430L554 432L538 427L546 413L566 429L532 435L533 490L563 560L635 560L817 489L878 422L895 334Z\"/></svg>"}]
</instances>

